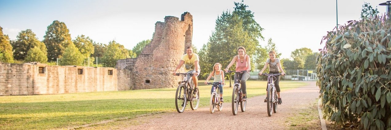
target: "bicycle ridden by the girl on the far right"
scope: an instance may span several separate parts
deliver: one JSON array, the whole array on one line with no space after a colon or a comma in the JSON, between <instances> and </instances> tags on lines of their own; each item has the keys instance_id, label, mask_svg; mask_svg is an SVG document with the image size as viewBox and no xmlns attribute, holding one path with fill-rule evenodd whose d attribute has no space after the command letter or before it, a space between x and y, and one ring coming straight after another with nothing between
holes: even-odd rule
<instances>
[{"instance_id":1,"label":"bicycle ridden by the girl on the far right","mask_svg":"<svg viewBox=\"0 0 391 130\"><path fill-rule=\"evenodd\" d=\"M274 86L274 81L276 81L275 76L280 76L281 73L276 73L276 74L268 74L268 73L262 73L262 75L267 76L267 115L271 116L272 114L272 109L273 112L277 112L277 105L278 105L278 97L277 97L277 91L276 87Z\"/></svg>"}]
</instances>

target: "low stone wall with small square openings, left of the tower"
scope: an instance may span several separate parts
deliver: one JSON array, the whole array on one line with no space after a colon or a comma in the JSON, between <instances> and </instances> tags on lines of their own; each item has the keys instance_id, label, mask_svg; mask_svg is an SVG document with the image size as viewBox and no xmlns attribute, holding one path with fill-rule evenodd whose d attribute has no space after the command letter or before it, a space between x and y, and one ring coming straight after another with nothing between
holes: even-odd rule
<instances>
[{"instance_id":1,"label":"low stone wall with small square openings, left of the tower","mask_svg":"<svg viewBox=\"0 0 391 130\"><path fill-rule=\"evenodd\" d=\"M0 96L117 90L114 68L0 62Z\"/></svg>"}]
</instances>

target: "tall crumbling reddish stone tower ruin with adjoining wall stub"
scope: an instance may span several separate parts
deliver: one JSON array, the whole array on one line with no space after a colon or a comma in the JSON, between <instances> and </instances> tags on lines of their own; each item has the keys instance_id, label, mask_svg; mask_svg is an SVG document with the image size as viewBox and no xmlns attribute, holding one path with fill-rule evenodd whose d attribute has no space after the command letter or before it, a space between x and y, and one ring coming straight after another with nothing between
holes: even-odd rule
<instances>
[{"instance_id":1,"label":"tall crumbling reddish stone tower ruin with adjoining wall stub","mask_svg":"<svg viewBox=\"0 0 391 130\"><path fill-rule=\"evenodd\" d=\"M172 72L185 48L192 45L192 35L193 16L189 12L183 13L181 20L166 16L164 22L156 22L152 41L142 53L117 61L118 90L177 87L180 77Z\"/></svg>"}]
</instances>

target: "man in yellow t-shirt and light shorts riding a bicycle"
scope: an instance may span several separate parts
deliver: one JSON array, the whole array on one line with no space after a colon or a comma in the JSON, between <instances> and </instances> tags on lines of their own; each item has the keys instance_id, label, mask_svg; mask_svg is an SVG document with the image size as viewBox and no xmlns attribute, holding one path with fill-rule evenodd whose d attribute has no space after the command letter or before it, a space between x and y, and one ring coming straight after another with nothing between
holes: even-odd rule
<instances>
[{"instance_id":1,"label":"man in yellow t-shirt and light shorts riding a bicycle","mask_svg":"<svg viewBox=\"0 0 391 130\"><path fill-rule=\"evenodd\" d=\"M193 83L195 86L195 88L194 88L195 91L193 92L193 94L198 92L198 89L197 89L198 78L197 78L197 76L199 75L199 72L200 72L198 61L199 61L198 55L196 53L193 53L193 48L191 46L189 46L186 48L186 54L182 56L181 61L179 61L178 66L174 70L174 73L172 73L173 75L175 75L176 72L178 71L178 69L181 68L183 64L185 64L185 72L186 73L194 73L192 78L193 78ZM186 78L189 79L190 76L188 75Z\"/></svg>"}]
</instances>

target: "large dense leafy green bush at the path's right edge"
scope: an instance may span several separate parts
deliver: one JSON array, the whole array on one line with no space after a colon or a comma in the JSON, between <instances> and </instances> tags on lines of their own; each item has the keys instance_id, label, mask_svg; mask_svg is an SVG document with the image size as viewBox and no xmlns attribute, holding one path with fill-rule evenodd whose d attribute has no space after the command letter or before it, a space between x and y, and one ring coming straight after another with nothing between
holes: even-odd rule
<instances>
[{"instance_id":1,"label":"large dense leafy green bush at the path's right edge","mask_svg":"<svg viewBox=\"0 0 391 130\"><path fill-rule=\"evenodd\" d=\"M317 57L323 111L339 125L391 130L391 21L352 21L324 37Z\"/></svg>"}]
</instances>

